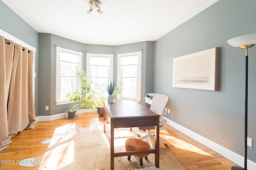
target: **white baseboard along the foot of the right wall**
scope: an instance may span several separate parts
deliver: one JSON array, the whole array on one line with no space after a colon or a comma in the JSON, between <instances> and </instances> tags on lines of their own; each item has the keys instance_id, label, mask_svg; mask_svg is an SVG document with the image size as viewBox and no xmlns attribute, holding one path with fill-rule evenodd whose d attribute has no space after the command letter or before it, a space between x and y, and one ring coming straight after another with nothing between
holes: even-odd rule
<instances>
[{"instance_id":1,"label":"white baseboard along the foot of the right wall","mask_svg":"<svg viewBox=\"0 0 256 170\"><path fill-rule=\"evenodd\" d=\"M244 166L244 157L243 156L241 156L229 149L226 149L225 147L222 147L221 145L219 145L213 141L210 141L209 139L207 139L201 135L198 135L197 133L194 133L193 131L187 129L186 127L183 127L183 126L179 125L178 123L171 121L170 119L166 118L166 120L167 120L168 125L174 127L178 131L180 131L180 132L184 133L185 135L191 137L192 139L198 141L202 145L214 150L218 154L221 154L222 156L228 158L232 162L235 162L236 164L238 164L242 167ZM255 170L256 163L248 159L247 160L247 169Z\"/></svg>"}]
</instances>

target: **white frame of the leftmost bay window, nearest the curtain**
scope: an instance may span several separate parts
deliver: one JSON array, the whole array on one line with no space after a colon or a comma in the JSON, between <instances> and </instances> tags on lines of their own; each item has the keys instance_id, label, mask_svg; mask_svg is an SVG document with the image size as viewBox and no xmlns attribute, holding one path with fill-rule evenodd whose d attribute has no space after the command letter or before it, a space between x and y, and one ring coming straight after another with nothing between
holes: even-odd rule
<instances>
[{"instance_id":1,"label":"white frame of the leftmost bay window, nearest the curtain","mask_svg":"<svg viewBox=\"0 0 256 170\"><path fill-rule=\"evenodd\" d=\"M69 50L69 49L64 49L61 47L56 47L56 93L55 93L55 101L56 101L56 105L62 105L62 104L70 104L71 102L69 100L60 100L60 90L61 90L61 75L60 75L60 52L64 52L64 53L70 53L70 54L74 54L74 55L78 55L79 56L79 63L76 62L69 62L69 63L76 63L78 64L78 71L82 71L82 52L78 52L78 51L73 51L73 50ZM77 91L81 92L81 88L80 88L80 80L79 77L76 76L77 78Z\"/></svg>"}]
</instances>

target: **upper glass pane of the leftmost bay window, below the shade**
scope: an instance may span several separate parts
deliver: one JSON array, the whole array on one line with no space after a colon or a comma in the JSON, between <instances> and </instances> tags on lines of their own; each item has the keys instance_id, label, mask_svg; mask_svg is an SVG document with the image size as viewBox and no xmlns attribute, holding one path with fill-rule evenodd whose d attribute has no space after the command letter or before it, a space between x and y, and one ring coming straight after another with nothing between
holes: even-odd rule
<instances>
[{"instance_id":1,"label":"upper glass pane of the leftmost bay window, below the shade","mask_svg":"<svg viewBox=\"0 0 256 170\"><path fill-rule=\"evenodd\" d=\"M60 75L61 76L76 76L78 64L60 62Z\"/></svg>"}]
</instances>

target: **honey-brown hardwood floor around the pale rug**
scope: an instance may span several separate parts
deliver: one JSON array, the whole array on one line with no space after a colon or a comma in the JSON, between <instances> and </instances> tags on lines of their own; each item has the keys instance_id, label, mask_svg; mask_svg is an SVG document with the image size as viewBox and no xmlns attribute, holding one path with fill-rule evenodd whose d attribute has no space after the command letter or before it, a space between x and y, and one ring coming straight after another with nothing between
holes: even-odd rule
<instances>
[{"instance_id":1,"label":"honey-brown hardwood floor around the pale rug","mask_svg":"<svg viewBox=\"0 0 256 170\"><path fill-rule=\"evenodd\" d=\"M22 167L16 162L41 156L49 151L48 145L42 145L40 141L50 139L58 127L74 123L76 130L72 133L76 134L79 127L89 128L92 122L102 123L103 117L94 113L83 113L73 120L62 118L37 122L34 129L26 129L18 133L11 139L12 143L6 149L0 151L0 160L6 160L6 163L8 161L14 163L0 164L0 169L38 169ZM231 166L238 166L169 125L167 125L166 130L160 131L160 138L168 143L168 147L164 147L164 144L160 143L160 148L171 154L186 170L230 170Z\"/></svg>"}]
</instances>

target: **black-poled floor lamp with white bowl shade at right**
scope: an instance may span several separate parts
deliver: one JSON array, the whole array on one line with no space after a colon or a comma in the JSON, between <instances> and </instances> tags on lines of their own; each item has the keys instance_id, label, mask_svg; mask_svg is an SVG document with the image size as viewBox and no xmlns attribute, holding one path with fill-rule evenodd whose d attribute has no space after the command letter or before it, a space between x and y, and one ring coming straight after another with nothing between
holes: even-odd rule
<instances>
[{"instance_id":1,"label":"black-poled floor lamp with white bowl shade at right","mask_svg":"<svg viewBox=\"0 0 256 170\"><path fill-rule=\"evenodd\" d=\"M256 44L256 33L228 40L234 47L245 49L245 107L244 107L244 168L233 166L231 170L247 170L247 120L248 120L248 48Z\"/></svg>"}]
</instances>

